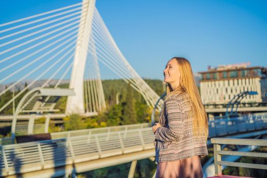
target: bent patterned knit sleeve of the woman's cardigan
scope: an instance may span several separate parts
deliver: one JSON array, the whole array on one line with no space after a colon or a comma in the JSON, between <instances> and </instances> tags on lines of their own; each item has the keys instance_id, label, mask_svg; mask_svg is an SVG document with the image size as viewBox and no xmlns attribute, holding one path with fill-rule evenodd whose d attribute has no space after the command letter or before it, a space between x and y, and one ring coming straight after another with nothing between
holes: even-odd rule
<instances>
[{"instance_id":1,"label":"bent patterned knit sleeve of the woman's cardigan","mask_svg":"<svg viewBox=\"0 0 267 178\"><path fill-rule=\"evenodd\" d=\"M169 142L179 139L183 131L183 113L180 101L172 98L166 101L167 127L159 127L155 132L157 140Z\"/></svg>"}]
</instances>

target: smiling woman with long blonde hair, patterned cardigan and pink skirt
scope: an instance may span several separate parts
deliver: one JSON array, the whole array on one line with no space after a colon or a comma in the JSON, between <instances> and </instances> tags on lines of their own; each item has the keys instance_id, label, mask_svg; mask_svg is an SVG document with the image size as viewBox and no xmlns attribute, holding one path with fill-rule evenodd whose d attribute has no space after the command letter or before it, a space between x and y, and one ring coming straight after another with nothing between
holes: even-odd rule
<instances>
[{"instance_id":1,"label":"smiling woman with long blonde hair, patterned cardigan and pink skirt","mask_svg":"<svg viewBox=\"0 0 267 178\"><path fill-rule=\"evenodd\" d=\"M156 177L203 177L200 157L207 155L207 116L190 63L173 57L166 65L167 96L153 126Z\"/></svg>"}]
</instances>

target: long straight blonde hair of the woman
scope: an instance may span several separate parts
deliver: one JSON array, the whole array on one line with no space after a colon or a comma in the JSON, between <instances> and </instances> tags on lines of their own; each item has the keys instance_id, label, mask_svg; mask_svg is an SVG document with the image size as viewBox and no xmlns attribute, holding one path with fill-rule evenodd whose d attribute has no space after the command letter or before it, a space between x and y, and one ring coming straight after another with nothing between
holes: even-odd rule
<instances>
[{"instance_id":1,"label":"long straight blonde hair of the woman","mask_svg":"<svg viewBox=\"0 0 267 178\"><path fill-rule=\"evenodd\" d=\"M167 95L169 93L181 93L185 92L188 94L192 106L193 114L193 128L194 135L204 135L207 139L209 135L209 127L207 122L207 114L205 108L201 102L200 94L198 88L196 86L195 77L192 72L191 65L186 58L183 57L173 57L177 61L181 72L180 78L180 87L178 87L175 91L172 90L170 84L167 85Z\"/></svg>"}]
</instances>

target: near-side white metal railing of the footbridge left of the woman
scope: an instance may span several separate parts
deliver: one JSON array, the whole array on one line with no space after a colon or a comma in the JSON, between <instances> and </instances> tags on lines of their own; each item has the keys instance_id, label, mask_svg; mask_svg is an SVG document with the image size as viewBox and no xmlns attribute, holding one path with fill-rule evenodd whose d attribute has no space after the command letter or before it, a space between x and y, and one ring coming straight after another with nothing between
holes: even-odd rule
<instances>
[{"instance_id":1,"label":"near-side white metal railing of the footbridge left of the woman","mask_svg":"<svg viewBox=\"0 0 267 178\"><path fill-rule=\"evenodd\" d=\"M0 176L154 149L151 128L1 146Z\"/></svg>"}]
</instances>

